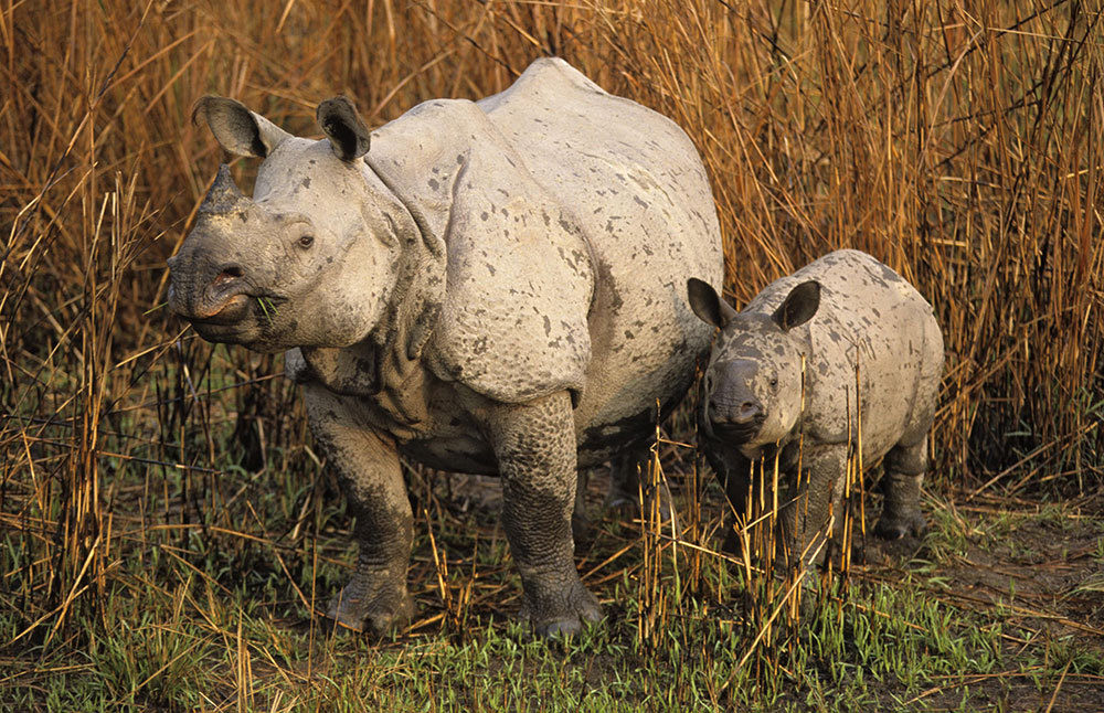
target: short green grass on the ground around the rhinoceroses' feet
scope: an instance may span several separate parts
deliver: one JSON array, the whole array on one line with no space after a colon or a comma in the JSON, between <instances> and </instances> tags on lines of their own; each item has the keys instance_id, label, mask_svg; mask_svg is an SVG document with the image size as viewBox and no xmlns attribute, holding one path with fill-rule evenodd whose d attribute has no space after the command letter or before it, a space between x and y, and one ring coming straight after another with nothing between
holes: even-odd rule
<instances>
[{"instance_id":1,"label":"short green grass on the ground around the rhinoceroses' feet","mask_svg":"<svg viewBox=\"0 0 1104 713\"><path fill-rule=\"evenodd\" d=\"M28 711L977 710L1049 695L1063 670L1066 681L1104 674L1104 647L1026 626L1009 606L1015 597L979 606L944 596L955 592L943 572L948 562L970 546L991 546L991 538L1007 539L1012 523L1065 522L1054 509L970 515L965 528L960 513L936 510L921 558L857 567L848 587L810 579L800 624L779 627L769 646L750 653L756 630L743 615L739 572L707 556L694 592L686 549L676 567L669 545L652 575L664 593L661 604L650 604L665 609L661 625L658 634L643 635L649 575L639 524L607 522L584 549L581 571L631 545L608 576L598 570L587 581L608 618L575 639L549 643L511 618L519 583L491 513L457 518L447 482L437 478L421 496L435 500L425 510L428 520L420 518L412 565L418 620L373 642L309 616L308 603L314 597L321 608L353 555L325 481L296 487L276 475L274 483L241 470L225 476L224 490L245 488L229 503L233 528L224 526L227 513L214 509L193 513L190 524L162 528L127 524L118 509L98 606L91 597L78 600L64 638L39 627L6 647L0 704ZM707 500L715 496L707 490ZM149 508L157 511L157 498ZM429 528L447 562L452 611L436 584ZM1100 538L1090 535L1098 556ZM28 562L18 538L6 534L0 545L0 571L10 582ZM11 595L3 598L17 605L0 607L0 638L11 641L30 613Z\"/></svg>"}]
</instances>

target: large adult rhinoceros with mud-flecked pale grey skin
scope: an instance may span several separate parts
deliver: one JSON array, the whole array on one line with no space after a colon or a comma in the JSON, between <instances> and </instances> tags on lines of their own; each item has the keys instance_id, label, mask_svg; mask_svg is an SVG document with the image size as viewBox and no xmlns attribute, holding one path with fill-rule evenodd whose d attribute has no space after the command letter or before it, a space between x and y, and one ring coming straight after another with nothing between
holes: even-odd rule
<instances>
[{"instance_id":1,"label":"large adult rhinoceros with mud-flecked pale grey skin","mask_svg":"<svg viewBox=\"0 0 1104 713\"><path fill-rule=\"evenodd\" d=\"M319 141L231 99L194 117L264 161L252 198L220 172L170 258L169 304L211 341L286 350L357 518L357 568L330 616L382 632L411 614L402 455L501 475L538 631L601 618L573 561L576 472L635 471L657 405L673 407L709 348L682 286L721 280L682 130L560 60L373 132L328 99Z\"/></svg>"}]
</instances>

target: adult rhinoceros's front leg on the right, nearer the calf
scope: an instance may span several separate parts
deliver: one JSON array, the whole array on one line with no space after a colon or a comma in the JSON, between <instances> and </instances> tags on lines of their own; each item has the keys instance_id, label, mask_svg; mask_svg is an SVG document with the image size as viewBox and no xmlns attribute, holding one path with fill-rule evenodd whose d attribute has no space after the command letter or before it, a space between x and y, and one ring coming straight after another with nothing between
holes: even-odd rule
<instances>
[{"instance_id":1,"label":"adult rhinoceros's front leg on the right, nearer the calf","mask_svg":"<svg viewBox=\"0 0 1104 713\"><path fill-rule=\"evenodd\" d=\"M602 609L578 578L571 513L575 426L559 392L526 404L495 404L488 436L502 476L502 524L523 587L522 616L538 634L573 634Z\"/></svg>"}]
</instances>

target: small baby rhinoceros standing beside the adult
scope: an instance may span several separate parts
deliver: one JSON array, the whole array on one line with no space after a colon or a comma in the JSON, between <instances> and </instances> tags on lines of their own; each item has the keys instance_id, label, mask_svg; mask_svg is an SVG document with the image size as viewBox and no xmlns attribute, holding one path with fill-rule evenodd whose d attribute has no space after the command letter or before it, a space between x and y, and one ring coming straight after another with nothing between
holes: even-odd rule
<instances>
[{"instance_id":1,"label":"small baby rhinoceros standing beside the adult","mask_svg":"<svg viewBox=\"0 0 1104 713\"><path fill-rule=\"evenodd\" d=\"M741 312L701 280L690 279L688 290L694 313L721 330L699 437L736 512L746 512L752 466L762 459L771 471L777 457L786 558L822 558L830 515L836 535L843 521L849 449L861 445L862 462L884 456L874 532L922 534L943 337L920 292L852 249L772 283Z\"/></svg>"}]
</instances>

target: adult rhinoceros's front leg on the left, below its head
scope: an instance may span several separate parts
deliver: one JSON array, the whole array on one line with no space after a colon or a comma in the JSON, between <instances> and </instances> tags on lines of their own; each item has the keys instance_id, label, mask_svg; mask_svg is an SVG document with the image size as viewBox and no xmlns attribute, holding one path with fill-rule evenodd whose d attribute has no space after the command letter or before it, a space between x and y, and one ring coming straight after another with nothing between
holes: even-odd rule
<instances>
[{"instance_id":1,"label":"adult rhinoceros's front leg on the left, below its head","mask_svg":"<svg viewBox=\"0 0 1104 713\"><path fill-rule=\"evenodd\" d=\"M305 385L315 439L341 482L360 544L352 579L327 616L357 631L380 636L410 619L413 602L406 568L413 515L394 444L357 418L355 404L317 385Z\"/></svg>"}]
</instances>

